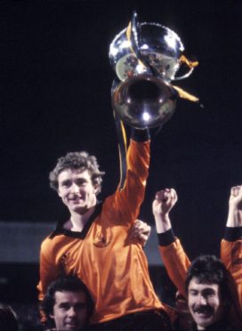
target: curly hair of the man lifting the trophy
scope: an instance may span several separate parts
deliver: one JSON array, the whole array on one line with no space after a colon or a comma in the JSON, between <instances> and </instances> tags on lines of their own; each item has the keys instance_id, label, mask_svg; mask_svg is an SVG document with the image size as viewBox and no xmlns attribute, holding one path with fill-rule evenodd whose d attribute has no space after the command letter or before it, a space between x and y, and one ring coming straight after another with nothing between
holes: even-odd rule
<instances>
[{"instance_id":1,"label":"curly hair of the man lifting the trophy","mask_svg":"<svg viewBox=\"0 0 242 331\"><path fill-rule=\"evenodd\" d=\"M59 174L67 169L83 172L87 170L92 178L93 185L99 187L97 194L101 192L102 176L105 174L99 170L97 158L89 155L85 151L69 152L65 157L58 158L58 162L49 175L50 186L53 190L58 190Z\"/></svg>"}]
</instances>

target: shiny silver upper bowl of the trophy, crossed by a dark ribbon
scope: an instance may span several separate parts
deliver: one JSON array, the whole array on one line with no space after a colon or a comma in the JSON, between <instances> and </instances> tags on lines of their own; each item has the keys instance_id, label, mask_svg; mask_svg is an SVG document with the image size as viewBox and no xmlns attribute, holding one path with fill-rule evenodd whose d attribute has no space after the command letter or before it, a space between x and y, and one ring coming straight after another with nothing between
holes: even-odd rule
<instances>
[{"instance_id":1,"label":"shiny silver upper bowl of the trophy, crossed by a dark ribbon","mask_svg":"<svg viewBox=\"0 0 242 331\"><path fill-rule=\"evenodd\" d=\"M149 68L141 64L132 48L127 37L127 28L123 29L109 46L110 64L121 81L133 75L151 74ZM175 74L180 68L179 59L184 47L173 30L157 23L141 23L139 51L149 66L156 69L160 78L166 82L176 79Z\"/></svg>"}]
</instances>

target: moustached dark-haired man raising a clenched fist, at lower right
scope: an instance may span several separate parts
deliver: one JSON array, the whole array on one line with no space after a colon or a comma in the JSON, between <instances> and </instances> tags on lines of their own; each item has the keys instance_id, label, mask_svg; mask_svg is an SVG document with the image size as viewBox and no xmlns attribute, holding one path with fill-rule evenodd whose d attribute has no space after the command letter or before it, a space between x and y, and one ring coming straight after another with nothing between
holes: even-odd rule
<instances>
[{"instance_id":1,"label":"moustached dark-haired man raising a clenched fist, at lower right","mask_svg":"<svg viewBox=\"0 0 242 331\"><path fill-rule=\"evenodd\" d=\"M214 255L201 255L190 264L180 240L174 237L169 214L176 201L175 190L158 191L153 214L162 260L174 285L188 300L195 330L242 329L239 289L225 265ZM241 274L238 270L240 281Z\"/></svg>"}]
</instances>

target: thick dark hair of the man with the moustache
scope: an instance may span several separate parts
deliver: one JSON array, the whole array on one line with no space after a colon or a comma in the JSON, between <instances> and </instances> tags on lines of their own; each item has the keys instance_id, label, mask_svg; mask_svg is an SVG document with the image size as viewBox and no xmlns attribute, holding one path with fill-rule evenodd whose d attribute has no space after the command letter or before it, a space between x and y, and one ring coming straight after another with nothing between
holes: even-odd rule
<instances>
[{"instance_id":1,"label":"thick dark hair of the man with the moustache","mask_svg":"<svg viewBox=\"0 0 242 331\"><path fill-rule=\"evenodd\" d=\"M227 309L227 315L230 314L230 321L241 327L237 286L222 261L214 255L201 255L191 262L185 281L186 293L188 293L191 279L194 278L199 284L219 286L222 303Z\"/></svg>"}]
</instances>

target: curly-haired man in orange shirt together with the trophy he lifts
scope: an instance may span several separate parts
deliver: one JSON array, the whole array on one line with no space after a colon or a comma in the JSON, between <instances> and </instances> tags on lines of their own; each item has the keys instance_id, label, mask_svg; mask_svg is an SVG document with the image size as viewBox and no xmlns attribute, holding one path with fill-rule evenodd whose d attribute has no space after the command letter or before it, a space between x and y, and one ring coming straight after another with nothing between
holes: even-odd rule
<instances>
[{"instance_id":1,"label":"curly-haired man in orange shirt together with the trophy he lifts","mask_svg":"<svg viewBox=\"0 0 242 331\"><path fill-rule=\"evenodd\" d=\"M43 299L54 279L77 276L95 303L92 330L172 329L173 310L157 298L142 246L130 240L128 233L139 215L148 178L149 127L171 117L179 94L168 81L180 66L181 57L173 55L181 51L180 38L172 30L155 23L139 25L133 14L109 52L121 81L113 89L117 121L133 127L123 184L98 202L104 173L96 157L84 151L60 157L50 174L51 187L70 217L42 243L39 298ZM143 100L140 94L145 95Z\"/></svg>"}]
</instances>

